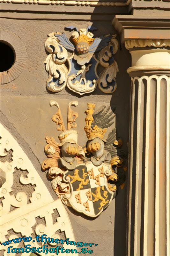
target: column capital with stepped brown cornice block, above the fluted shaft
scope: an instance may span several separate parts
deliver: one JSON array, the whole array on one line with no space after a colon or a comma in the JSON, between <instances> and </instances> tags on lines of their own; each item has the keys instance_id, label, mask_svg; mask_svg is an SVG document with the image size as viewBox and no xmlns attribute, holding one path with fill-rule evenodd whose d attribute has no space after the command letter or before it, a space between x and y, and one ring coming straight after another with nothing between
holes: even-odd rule
<instances>
[{"instance_id":1,"label":"column capital with stepped brown cornice block, above the fluted shaft","mask_svg":"<svg viewBox=\"0 0 170 256\"><path fill-rule=\"evenodd\" d=\"M127 72L132 77L170 76L170 18L151 15L146 18L146 14L116 15L113 20L121 43L132 56L132 67Z\"/></svg>"}]
</instances>

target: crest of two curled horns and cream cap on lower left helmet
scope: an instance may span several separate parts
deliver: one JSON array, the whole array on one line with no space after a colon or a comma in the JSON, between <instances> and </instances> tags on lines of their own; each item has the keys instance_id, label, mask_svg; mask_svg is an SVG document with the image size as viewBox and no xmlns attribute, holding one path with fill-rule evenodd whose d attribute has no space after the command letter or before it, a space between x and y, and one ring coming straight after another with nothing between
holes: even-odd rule
<instances>
[{"instance_id":1,"label":"crest of two curled horns and cream cap on lower left helmet","mask_svg":"<svg viewBox=\"0 0 170 256\"><path fill-rule=\"evenodd\" d=\"M51 100L50 101L50 106L56 106L58 108L58 111L52 116L53 122L57 124L57 131L62 131L60 135L58 136L60 140L59 146L63 146L65 142L70 142L72 144L77 144L78 145L78 132L77 130L73 130L74 128L77 127L76 118L78 117L78 113L74 112L71 109L71 106L78 106L78 101L71 101L68 106L68 116L67 116L67 129L65 128L64 122L63 122L63 117L61 114L61 109L59 104ZM80 146L78 146L80 147Z\"/></svg>"}]
</instances>

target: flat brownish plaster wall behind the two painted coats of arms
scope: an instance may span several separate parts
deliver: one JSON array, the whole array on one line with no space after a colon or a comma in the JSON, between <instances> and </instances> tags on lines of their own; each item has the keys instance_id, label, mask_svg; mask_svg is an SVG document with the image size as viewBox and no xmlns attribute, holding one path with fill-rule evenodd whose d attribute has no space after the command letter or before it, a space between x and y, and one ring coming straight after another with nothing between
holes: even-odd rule
<instances>
[{"instance_id":1,"label":"flat brownish plaster wall behind the two painted coats of arms","mask_svg":"<svg viewBox=\"0 0 170 256\"><path fill-rule=\"evenodd\" d=\"M57 14L53 14L56 15ZM46 173L41 171L41 163L46 158L44 154L45 136L53 136L56 141L59 132L51 117L56 112L55 107L49 106L50 100L56 100L66 123L67 107L71 100L78 100L77 130L78 143L83 146L87 140L84 132L87 102L93 102L96 107L108 104L116 114L114 126L127 149L129 140L129 94L130 81L126 69L130 66L130 55L124 46L119 47L115 54L119 72L117 74L117 89L113 94L104 94L98 88L90 94L80 96L68 88L58 93L46 89L48 73L43 64L47 57L44 43L51 32L63 32L64 27L74 25L86 28L94 25L98 28L94 37L115 34L110 21L94 22L73 20L18 20L1 19L0 28L17 35L26 47L26 66L20 76L14 81L1 85L1 123L16 138L35 169L46 184L54 199L56 195L51 188L51 182ZM69 35L68 31L65 31ZM109 132L109 130L108 130ZM108 134L107 132L107 134ZM107 137L107 135L106 135ZM126 200L127 180L123 189L119 188L118 196L112 200L109 207L95 219L82 216L73 209L65 207L76 241L99 244L94 247L94 256L125 255L126 244Z\"/></svg>"}]
</instances>

